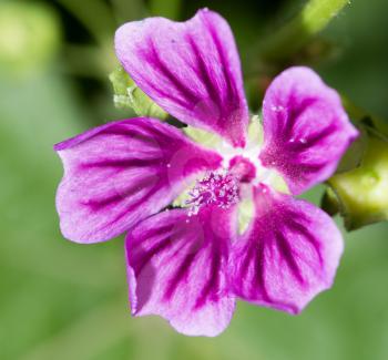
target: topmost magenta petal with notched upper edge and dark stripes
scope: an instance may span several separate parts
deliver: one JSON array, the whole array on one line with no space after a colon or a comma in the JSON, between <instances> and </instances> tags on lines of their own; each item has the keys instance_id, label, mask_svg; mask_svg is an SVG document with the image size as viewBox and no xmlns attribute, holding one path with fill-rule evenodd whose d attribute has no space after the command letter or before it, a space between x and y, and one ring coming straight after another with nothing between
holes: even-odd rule
<instances>
[{"instance_id":1,"label":"topmost magenta petal with notched upper edge and dark stripes","mask_svg":"<svg viewBox=\"0 0 388 360\"><path fill-rule=\"evenodd\" d=\"M122 25L120 62L136 84L178 120L244 146L248 110L227 22L200 10L186 22L150 18Z\"/></svg>"}]
</instances>

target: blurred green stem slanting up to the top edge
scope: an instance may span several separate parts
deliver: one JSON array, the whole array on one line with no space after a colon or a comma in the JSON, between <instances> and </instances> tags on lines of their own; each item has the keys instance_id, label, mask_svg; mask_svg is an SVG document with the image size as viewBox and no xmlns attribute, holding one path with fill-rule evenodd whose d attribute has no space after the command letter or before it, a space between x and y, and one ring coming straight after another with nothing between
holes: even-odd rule
<instances>
[{"instance_id":1,"label":"blurred green stem slanting up to the top edge","mask_svg":"<svg viewBox=\"0 0 388 360\"><path fill-rule=\"evenodd\" d=\"M257 47L265 60L284 60L299 51L349 3L349 0L309 0L302 11Z\"/></svg>"}]
</instances>

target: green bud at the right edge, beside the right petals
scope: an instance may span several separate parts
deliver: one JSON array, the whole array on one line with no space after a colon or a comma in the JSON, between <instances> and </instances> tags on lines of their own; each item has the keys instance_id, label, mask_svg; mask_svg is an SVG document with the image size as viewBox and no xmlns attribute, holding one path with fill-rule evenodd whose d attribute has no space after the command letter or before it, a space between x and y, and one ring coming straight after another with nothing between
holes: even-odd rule
<instances>
[{"instance_id":1,"label":"green bud at the right edge, beside the right petals","mask_svg":"<svg viewBox=\"0 0 388 360\"><path fill-rule=\"evenodd\" d=\"M364 137L360 166L328 181L348 230L388 219L388 142L371 131Z\"/></svg>"}]
</instances>

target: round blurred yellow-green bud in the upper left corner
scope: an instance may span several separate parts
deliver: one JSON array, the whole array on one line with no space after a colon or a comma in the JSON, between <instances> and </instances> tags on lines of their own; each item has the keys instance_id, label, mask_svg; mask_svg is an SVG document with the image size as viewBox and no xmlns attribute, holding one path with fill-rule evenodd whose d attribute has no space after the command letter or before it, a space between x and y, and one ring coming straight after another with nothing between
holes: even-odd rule
<instances>
[{"instance_id":1,"label":"round blurred yellow-green bud in the upper left corner","mask_svg":"<svg viewBox=\"0 0 388 360\"><path fill-rule=\"evenodd\" d=\"M55 13L42 3L0 3L0 71L24 74L44 66L61 40Z\"/></svg>"}]
</instances>

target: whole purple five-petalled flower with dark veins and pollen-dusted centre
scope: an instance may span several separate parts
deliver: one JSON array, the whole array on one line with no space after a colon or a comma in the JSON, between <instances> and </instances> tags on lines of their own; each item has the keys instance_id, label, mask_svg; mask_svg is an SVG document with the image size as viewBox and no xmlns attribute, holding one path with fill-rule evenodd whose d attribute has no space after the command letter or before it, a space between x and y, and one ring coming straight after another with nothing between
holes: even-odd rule
<instances>
[{"instance_id":1,"label":"whole purple five-petalled flower with dark veins and pollen-dusted centre","mask_svg":"<svg viewBox=\"0 0 388 360\"><path fill-rule=\"evenodd\" d=\"M236 298L299 312L331 286L343 251L331 218L292 196L328 178L357 136L338 94L307 68L284 71L265 95L261 144L247 136L239 59L217 13L126 23L115 49L160 106L223 142L205 148L137 117L58 144L63 235L96 243L127 230L132 312L160 315L186 335L218 335ZM292 195L275 189L276 174ZM186 207L162 210L182 192ZM254 210L241 234L243 200Z\"/></svg>"}]
</instances>

